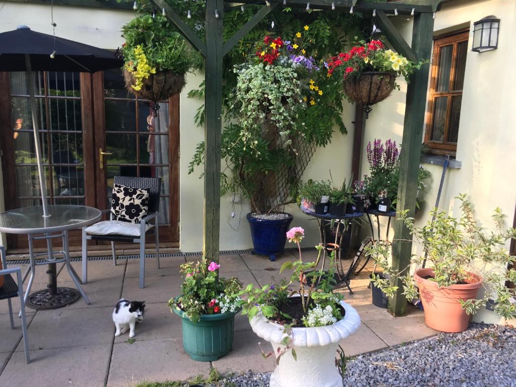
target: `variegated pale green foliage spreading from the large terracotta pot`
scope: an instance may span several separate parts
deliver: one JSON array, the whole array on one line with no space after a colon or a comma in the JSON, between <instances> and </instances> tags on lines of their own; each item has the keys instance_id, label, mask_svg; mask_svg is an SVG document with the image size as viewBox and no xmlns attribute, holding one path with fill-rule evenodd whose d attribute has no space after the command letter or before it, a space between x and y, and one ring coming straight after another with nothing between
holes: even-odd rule
<instances>
[{"instance_id":1,"label":"variegated pale green foliage spreading from the large terracotta pot","mask_svg":"<svg viewBox=\"0 0 516 387\"><path fill-rule=\"evenodd\" d=\"M428 221L423 227L415 227L414 218L400 213L410 233L421 244L427 254L428 262L434 270L434 278L429 279L439 287L449 287L460 282L474 281L475 276L483 278L486 288L485 296L478 300L461 301L462 308L472 314L485 305L488 299L494 299L494 311L505 318L516 317L516 289L505 286L506 281L516 279L516 271L510 268L516 262L516 256L509 253L507 245L516 237L516 229L506 228L505 215L496 208L493 215L495 230L483 229L474 218L473 206L460 195L462 214L455 218L444 211L432 209L431 216L436 219ZM392 296L397 290L397 279L401 280L404 294L408 300L418 297L417 288L411 276L404 273L408 268L396 272L389 264L390 248L388 245L376 245L368 249L367 254L389 273L389 280L372 279L384 293ZM425 256L413 256L411 265L421 265Z\"/></svg>"}]
</instances>

